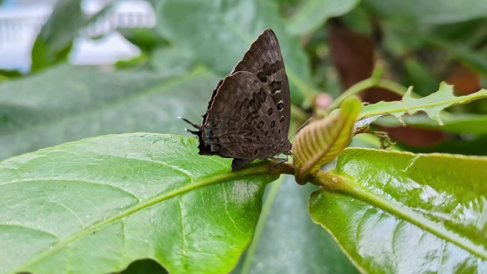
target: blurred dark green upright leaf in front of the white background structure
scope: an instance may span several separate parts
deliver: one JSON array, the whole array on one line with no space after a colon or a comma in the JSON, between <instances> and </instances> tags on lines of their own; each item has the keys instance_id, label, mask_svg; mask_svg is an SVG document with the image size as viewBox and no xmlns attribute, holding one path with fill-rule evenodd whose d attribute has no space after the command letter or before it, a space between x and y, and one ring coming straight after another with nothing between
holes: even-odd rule
<instances>
[{"instance_id":1,"label":"blurred dark green upright leaf in front of the white background structure","mask_svg":"<svg viewBox=\"0 0 487 274\"><path fill-rule=\"evenodd\" d=\"M80 0L59 1L34 42L31 70L42 70L65 60L75 35L86 23Z\"/></svg>"}]
</instances>

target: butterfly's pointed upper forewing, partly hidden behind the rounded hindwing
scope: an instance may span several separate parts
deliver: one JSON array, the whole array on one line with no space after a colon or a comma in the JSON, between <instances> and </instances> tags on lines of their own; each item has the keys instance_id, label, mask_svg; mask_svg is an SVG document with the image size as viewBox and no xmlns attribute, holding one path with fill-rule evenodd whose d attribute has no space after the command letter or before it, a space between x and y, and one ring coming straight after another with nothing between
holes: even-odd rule
<instances>
[{"instance_id":1,"label":"butterfly's pointed upper forewing, partly hidden behind the rounded hindwing","mask_svg":"<svg viewBox=\"0 0 487 274\"><path fill-rule=\"evenodd\" d=\"M290 122L288 76L276 34L271 29L267 28L258 36L231 75L239 71L248 71L256 75L264 90L271 95L274 105L280 110L278 118L282 125L281 136L287 139Z\"/></svg>"}]
</instances>

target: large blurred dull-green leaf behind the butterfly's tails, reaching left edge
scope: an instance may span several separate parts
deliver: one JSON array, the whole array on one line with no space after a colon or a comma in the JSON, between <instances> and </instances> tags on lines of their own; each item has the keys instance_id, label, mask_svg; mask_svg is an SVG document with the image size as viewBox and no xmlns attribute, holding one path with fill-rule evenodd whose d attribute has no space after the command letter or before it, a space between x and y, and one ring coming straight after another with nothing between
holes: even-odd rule
<instances>
[{"instance_id":1,"label":"large blurred dull-green leaf behind the butterfly's tails, reaching left edge","mask_svg":"<svg viewBox=\"0 0 487 274\"><path fill-rule=\"evenodd\" d=\"M0 159L96 135L187 134L219 78L207 70L162 77L67 65L0 85Z\"/></svg>"}]
</instances>

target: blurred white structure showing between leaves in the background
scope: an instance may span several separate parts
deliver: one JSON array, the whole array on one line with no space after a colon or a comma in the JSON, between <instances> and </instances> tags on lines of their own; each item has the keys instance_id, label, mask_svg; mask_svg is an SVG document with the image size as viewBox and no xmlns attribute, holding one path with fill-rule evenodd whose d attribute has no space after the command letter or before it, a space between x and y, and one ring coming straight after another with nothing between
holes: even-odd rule
<instances>
[{"instance_id":1,"label":"blurred white structure showing between leaves in the background","mask_svg":"<svg viewBox=\"0 0 487 274\"><path fill-rule=\"evenodd\" d=\"M13 1L13 0L11 0ZM16 0L14 5L0 6L0 68L28 70L31 49L38 32L53 11L54 0ZM84 0L83 11L95 14L110 0ZM9 1L6 1L8 4ZM117 28L152 28L155 14L152 6L142 0L115 1L112 9L83 29L70 53L75 65L105 65L135 57L139 49L129 43ZM92 40L92 37L103 36Z\"/></svg>"}]
</instances>

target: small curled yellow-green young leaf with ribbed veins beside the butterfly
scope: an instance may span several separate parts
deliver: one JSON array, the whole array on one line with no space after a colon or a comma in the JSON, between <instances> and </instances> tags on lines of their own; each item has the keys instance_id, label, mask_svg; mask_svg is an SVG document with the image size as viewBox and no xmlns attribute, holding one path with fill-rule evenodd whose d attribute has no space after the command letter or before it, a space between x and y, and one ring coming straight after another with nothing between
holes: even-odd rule
<instances>
[{"instance_id":1,"label":"small curled yellow-green young leaf with ribbed veins beside the butterfly","mask_svg":"<svg viewBox=\"0 0 487 274\"><path fill-rule=\"evenodd\" d=\"M345 149L352 139L357 115L362 109L360 99L343 100L340 111L306 126L293 144L293 165L298 184L306 184L320 169Z\"/></svg>"}]
</instances>

